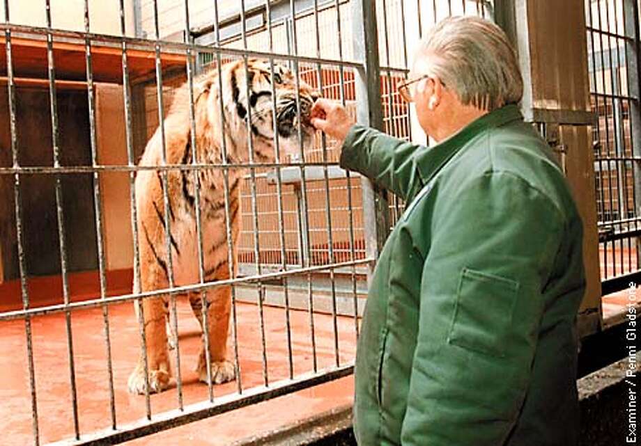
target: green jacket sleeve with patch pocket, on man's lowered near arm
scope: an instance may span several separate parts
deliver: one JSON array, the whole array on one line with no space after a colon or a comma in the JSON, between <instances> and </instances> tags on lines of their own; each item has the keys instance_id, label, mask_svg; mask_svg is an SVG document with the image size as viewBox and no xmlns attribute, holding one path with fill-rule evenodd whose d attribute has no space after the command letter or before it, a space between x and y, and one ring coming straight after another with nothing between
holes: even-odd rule
<instances>
[{"instance_id":1,"label":"green jacket sleeve with patch pocket, on man's lowered near arm","mask_svg":"<svg viewBox=\"0 0 641 446\"><path fill-rule=\"evenodd\" d=\"M565 227L550 198L511 173L486 173L450 197L433 208L403 446L504 443Z\"/></svg>"}]
</instances>

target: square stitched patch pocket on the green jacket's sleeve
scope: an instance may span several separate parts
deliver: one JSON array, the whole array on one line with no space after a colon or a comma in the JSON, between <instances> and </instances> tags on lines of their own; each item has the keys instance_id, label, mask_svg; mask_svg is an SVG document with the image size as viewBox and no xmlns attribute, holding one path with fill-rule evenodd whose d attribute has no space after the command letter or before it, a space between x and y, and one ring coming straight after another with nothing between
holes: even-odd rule
<instances>
[{"instance_id":1,"label":"square stitched patch pocket on the green jacket's sleeve","mask_svg":"<svg viewBox=\"0 0 641 446\"><path fill-rule=\"evenodd\" d=\"M505 356L519 283L463 268L447 342L486 355Z\"/></svg>"}]
</instances>

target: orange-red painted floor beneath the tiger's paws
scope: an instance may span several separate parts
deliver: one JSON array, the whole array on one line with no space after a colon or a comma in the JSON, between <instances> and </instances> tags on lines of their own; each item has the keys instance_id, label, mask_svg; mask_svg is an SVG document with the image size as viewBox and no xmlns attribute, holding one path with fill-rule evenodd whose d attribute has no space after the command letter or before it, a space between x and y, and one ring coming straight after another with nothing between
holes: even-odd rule
<instances>
[{"instance_id":1,"label":"orange-red painted floor beneath the tiger's paws","mask_svg":"<svg viewBox=\"0 0 641 446\"><path fill-rule=\"evenodd\" d=\"M334 366L334 332L330 315L314 314L318 369ZM207 386L199 383L193 368L199 352L199 326L189 304L178 303L180 360L183 374L184 404L207 399ZM127 378L137 360L139 331L131 303L112 305L109 310L111 355L114 368L116 418L118 424L145 416L145 399L130 395ZM312 369L309 313L291 311L293 367L295 376ZM355 327L352 318L338 318L341 364L355 356ZM36 369L38 422L42 444L73 435L69 363L63 314L36 317L32 321L33 359ZM79 427L81 434L110 427L107 359L100 308L74 312L73 347L76 369ZM244 388L263 384L261 330L258 306L238 304L238 345L241 379ZM271 382L288 378L288 349L285 312L265 307L265 342ZM231 346L230 346L231 347ZM230 349L231 351L231 349ZM173 358L172 367L175 365ZM24 321L0 323L0 431L2 445L33 444L31 399L26 363ZM235 383L217 385L215 396L236 391ZM353 379L302 390L230 413L187 424L171 431L133 440L132 445L229 445L302 417L343 406L352 400ZM177 407L175 386L152 395L153 413ZM249 420L249 421L248 421Z\"/></svg>"}]
</instances>

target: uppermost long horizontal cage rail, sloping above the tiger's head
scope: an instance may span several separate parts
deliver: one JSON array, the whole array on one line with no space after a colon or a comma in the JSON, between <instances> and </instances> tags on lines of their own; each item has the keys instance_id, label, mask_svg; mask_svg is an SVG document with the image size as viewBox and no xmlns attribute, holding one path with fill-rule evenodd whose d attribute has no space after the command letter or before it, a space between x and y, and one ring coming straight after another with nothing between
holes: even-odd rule
<instances>
[{"instance_id":1,"label":"uppermost long horizontal cage rail, sloping above the tiger's head","mask_svg":"<svg viewBox=\"0 0 641 446\"><path fill-rule=\"evenodd\" d=\"M299 56L286 53L270 53L268 51L255 51L251 49L238 49L231 47L222 47L220 45L196 45L195 43L173 42L169 40L150 40L142 38L123 37L116 35L86 33L82 31L68 31L63 29L49 29L41 26L24 26L17 24L0 24L0 30L9 30L12 33L26 34L26 35L42 35L45 37L51 34L56 38L56 41L63 41L60 38L76 39L79 43L84 44L86 39L91 40L91 43L101 42L105 44L112 44L111 46L122 48L123 42L127 44L128 49L155 49L159 46L162 50L171 50L171 54L184 56L188 49L196 50L208 54L229 54L232 56L252 56L257 58L275 58L286 61L300 61L304 63L321 63L323 65L337 65L343 67L353 67L362 69L363 64L357 61L341 61L337 59L319 58L311 56ZM14 35L16 38L24 37L24 35ZM95 45L98 46L98 45ZM169 52L169 51L164 51Z\"/></svg>"}]
</instances>

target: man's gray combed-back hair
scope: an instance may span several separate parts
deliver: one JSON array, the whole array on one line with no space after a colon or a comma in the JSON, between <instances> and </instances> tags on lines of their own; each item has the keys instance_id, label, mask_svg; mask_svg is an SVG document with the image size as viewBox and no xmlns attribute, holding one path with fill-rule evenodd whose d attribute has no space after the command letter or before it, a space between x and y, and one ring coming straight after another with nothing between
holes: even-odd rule
<instances>
[{"instance_id":1,"label":"man's gray combed-back hair","mask_svg":"<svg viewBox=\"0 0 641 446\"><path fill-rule=\"evenodd\" d=\"M454 90L463 104L492 111L523 96L516 52L497 25L479 17L449 17L422 40L427 73Z\"/></svg>"}]
</instances>

